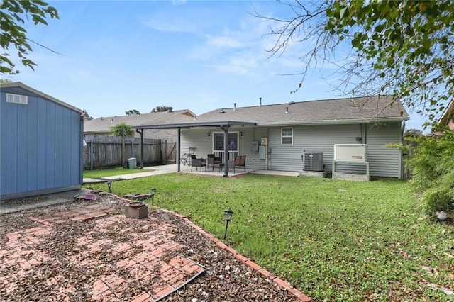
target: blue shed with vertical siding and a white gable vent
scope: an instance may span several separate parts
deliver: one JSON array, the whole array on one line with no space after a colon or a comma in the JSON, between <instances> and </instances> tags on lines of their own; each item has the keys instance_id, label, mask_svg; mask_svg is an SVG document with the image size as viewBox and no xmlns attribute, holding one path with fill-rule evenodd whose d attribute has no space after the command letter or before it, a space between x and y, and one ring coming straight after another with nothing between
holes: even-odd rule
<instances>
[{"instance_id":1,"label":"blue shed with vertical siding and a white gable vent","mask_svg":"<svg viewBox=\"0 0 454 302\"><path fill-rule=\"evenodd\" d=\"M21 82L0 96L0 201L80 189L82 110Z\"/></svg>"}]
</instances>

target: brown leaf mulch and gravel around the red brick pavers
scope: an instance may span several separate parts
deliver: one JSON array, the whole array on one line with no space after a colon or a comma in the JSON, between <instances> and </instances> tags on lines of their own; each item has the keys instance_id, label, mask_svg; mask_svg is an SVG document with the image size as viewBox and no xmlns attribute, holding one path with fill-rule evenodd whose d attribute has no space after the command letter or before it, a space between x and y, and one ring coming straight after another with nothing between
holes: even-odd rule
<instances>
[{"instance_id":1,"label":"brown leaf mulch and gravel around the red brick pavers","mask_svg":"<svg viewBox=\"0 0 454 302\"><path fill-rule=\"evenodd\" d=\"M23 198L18 202L33 202L33 198ZM73 201L2 214L0 215L0 245L7 244L9 233L42 226L42 223L31 220L30 217L36 218L52 213L67 212L94 203L111 207L112 211L109 216L124 215L125 201L110 195L101 195L96 201ZM7 282L0 278L0 301L60 301L61 291L65 290L67 291L66 296L70 297L69 301L92 301L93 285L99 278L109 275L118 275L123 279L133 277L114 270L114 266L106 265L106 263L118 262L122 257L121 254L117 256L109 254L109 256L104 256L109 259L104 259L102 252L93 253L91 257L99 259L101 264L99 267L95 266L90 269L68 263L64 256L78 257L78 255L84 254L84 251L80 250L80 246L77 245L77 239L82 235L92 232L94 237L100 236L100 238L112 242L121 240L124 242L125 233L118 230L124 229L128 230L128 233L140 233L140 228L147 223L147 220L170 225L172 233L175 234L172 240L179 243L181 247L169 252L168 257L181 255L205 268L204 274L196 277L170 296L163 298L162 301L298 301L288 291L241 263L236 257L233 257L231 252L221 249L212 240L172 213L159 209L150 211L149 209L148 218L122 220L123 225L116 225L115 229L102 234L93 233L93 225L97 219L105 219L105 217L95 218L84 223L74 223L72 220L52 223L54 234L52 240L39 242L36 249L52 255L54 260L46 262L43 259L41 264L33 268L32 275L16 276L13 280L14 286L10 286L9 289L4 286ZM133 252L140 253L141 251L137 249ZM3 262L4 259L6 257L0 255L0 262ZM2 271L5 269L4 267L0 266L0 277L11 276L11 272ZM52 283L49 283L50 280L54 282L53 286ZM11 285L11 280L9 281ZM138 293L151 291L152 286L153 284L146 282L138 283L138 286L122 291L121 295L116 296L116 300L131 301L138 296ZM60 289L60 293L56 288ZM113 300L110 297L105 298L104 301Z\"/></svg>"}]
</instances>

